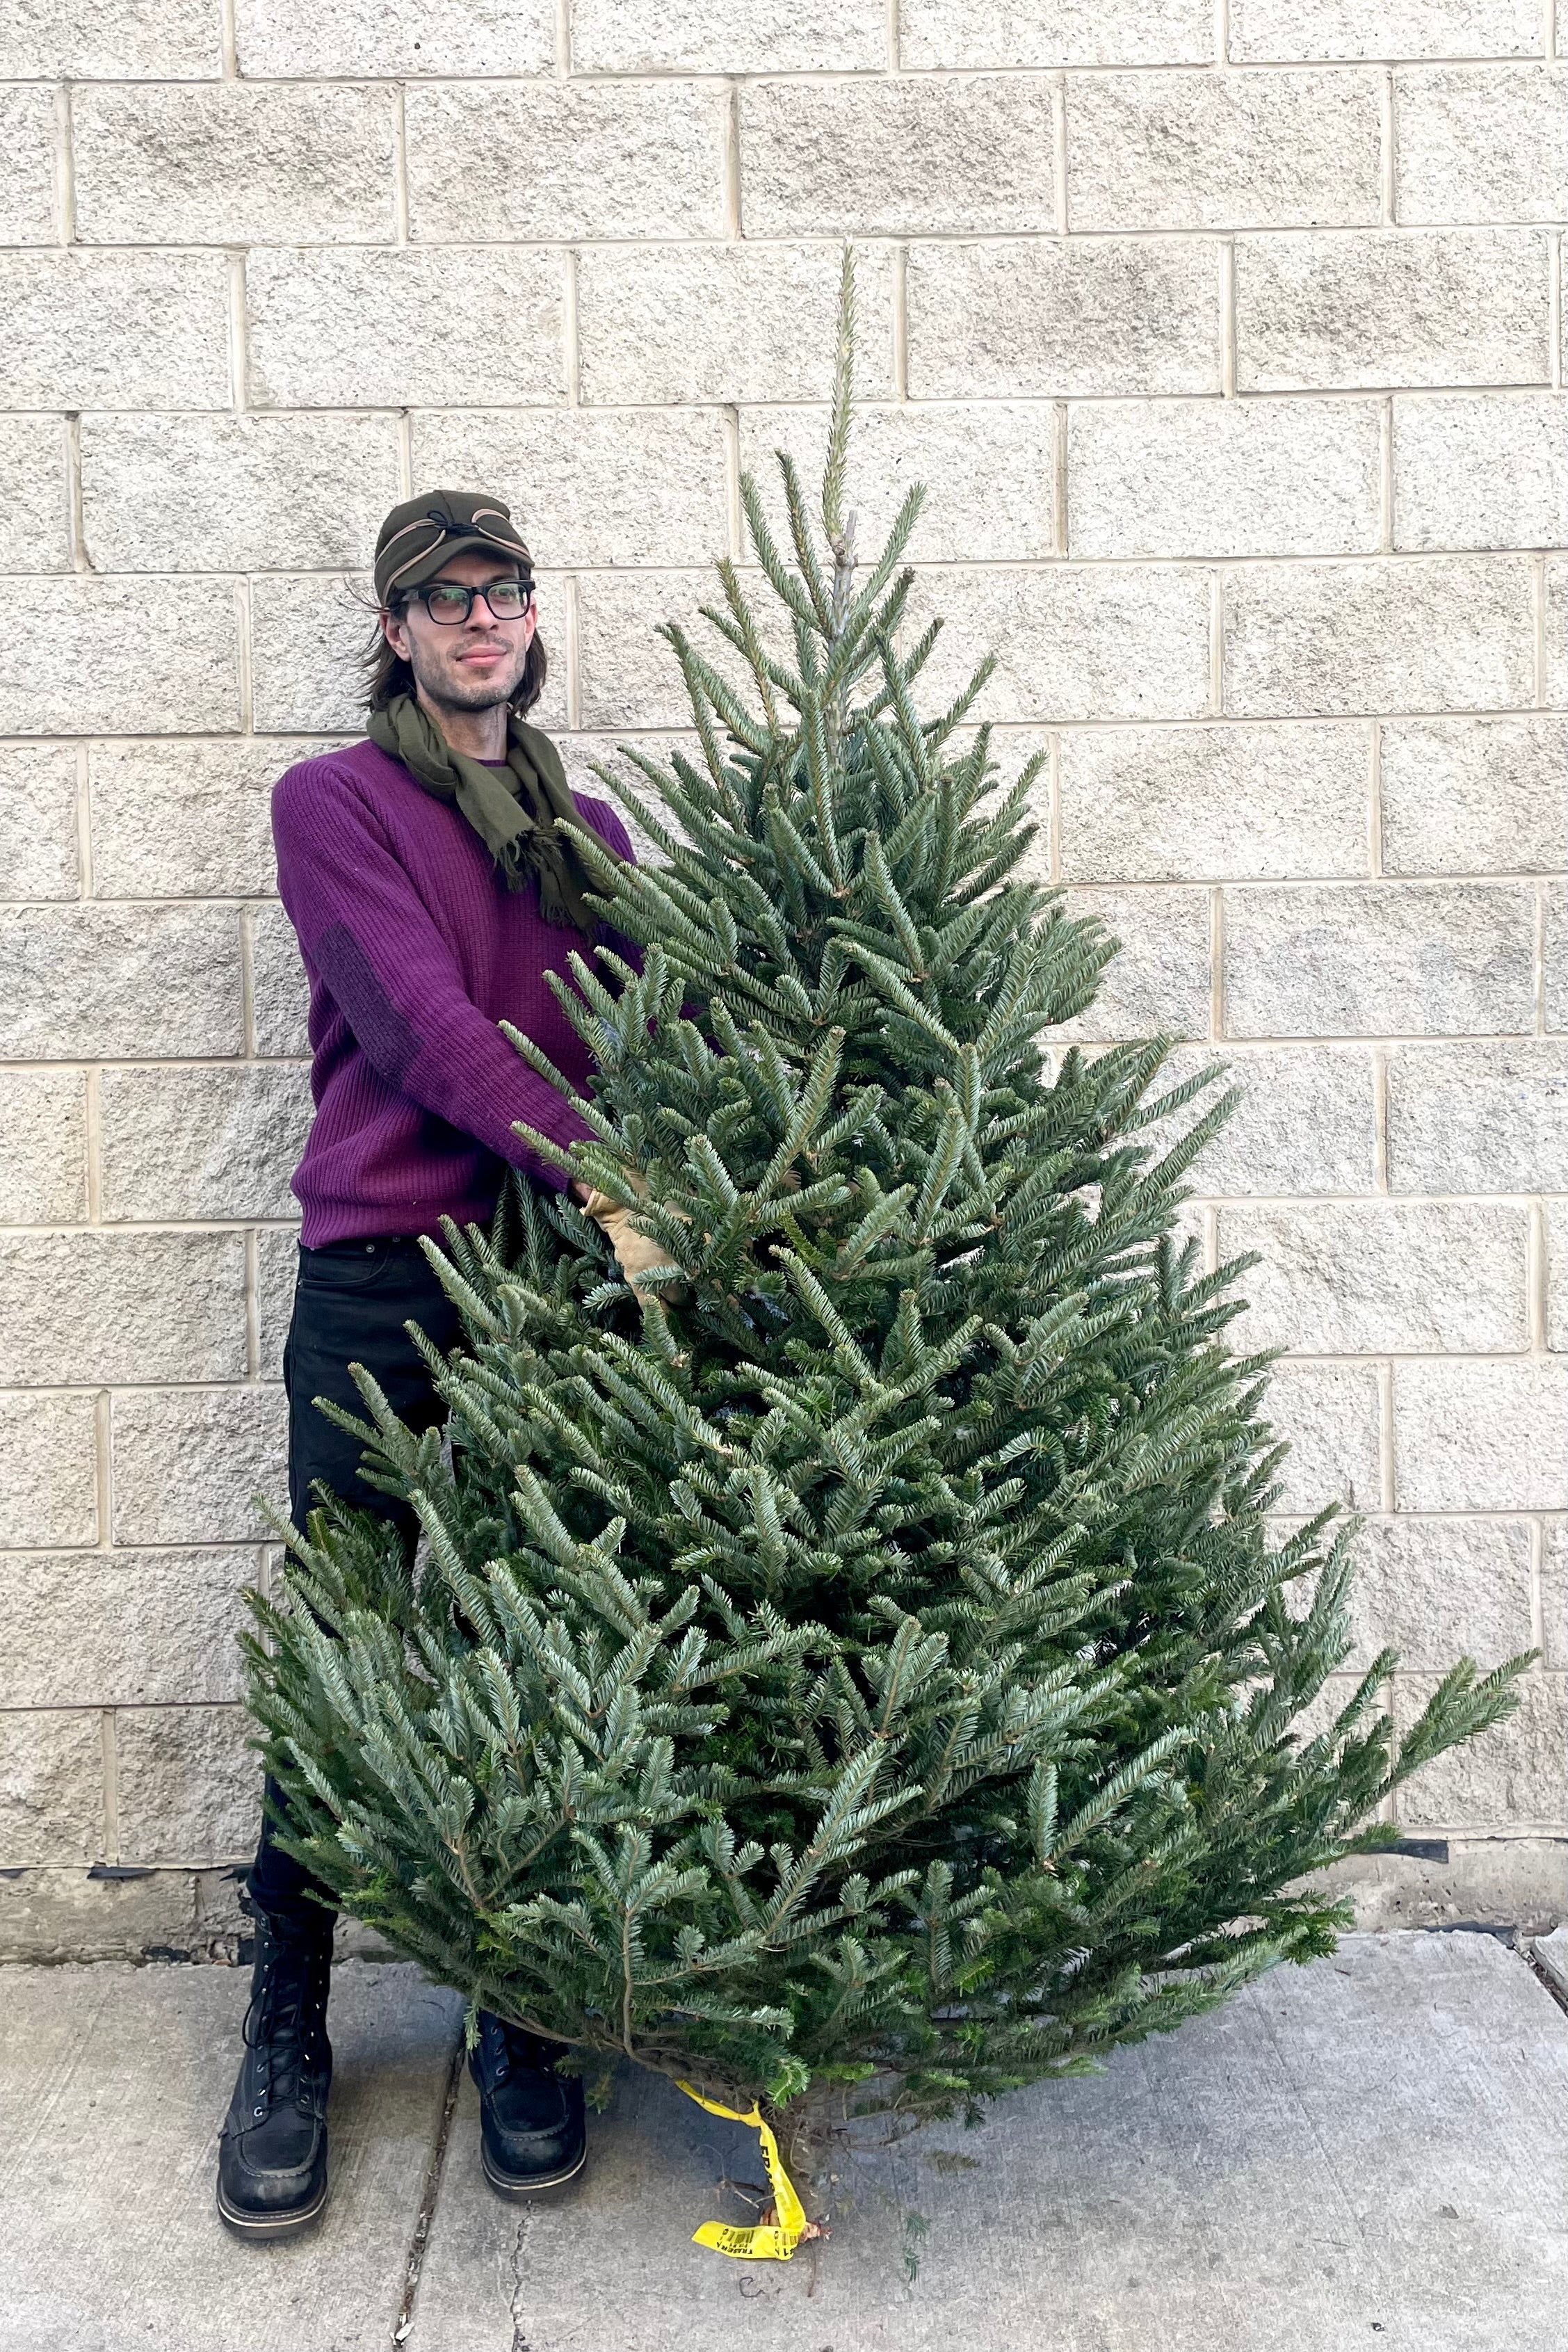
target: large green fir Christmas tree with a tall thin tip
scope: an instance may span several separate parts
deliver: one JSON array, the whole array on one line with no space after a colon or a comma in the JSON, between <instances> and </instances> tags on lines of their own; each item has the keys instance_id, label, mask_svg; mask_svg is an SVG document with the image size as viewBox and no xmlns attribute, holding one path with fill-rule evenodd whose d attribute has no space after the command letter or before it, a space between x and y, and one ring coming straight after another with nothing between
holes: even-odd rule
<instances>
[{"instance_id":1,"label":"large green fir Christmas tree with a tall thin tip","mask_svg":"<svg viewBox=\"0 0 1568 2352\"><path fill-rule=\"evenodd\" d=\"M661 861L581 833L642 969L576 960L595 1141L534 1148L654 1263L527 1185L428 1244L451 1463L364 1376L350 1423L418 1566L324 1501L247 1644L346 1910L785 2126L973 2117L1331 1950L1314 1877L1523 1663L1401 1740L1387 1653L1324 1708L1354 1531L1269 1522L1244 1268L1178 1237L1232 1098L1164 1040L1048 1068L1112 941L1018 877L1039 760L997 786L987 666L917 710L922 492L860 576L851 355L846 256L820 527L780 459L785 553L745 480L771 616L719 562L712 659L663 630L701 750L607 776Z\"/></svg>"}]
</instances>

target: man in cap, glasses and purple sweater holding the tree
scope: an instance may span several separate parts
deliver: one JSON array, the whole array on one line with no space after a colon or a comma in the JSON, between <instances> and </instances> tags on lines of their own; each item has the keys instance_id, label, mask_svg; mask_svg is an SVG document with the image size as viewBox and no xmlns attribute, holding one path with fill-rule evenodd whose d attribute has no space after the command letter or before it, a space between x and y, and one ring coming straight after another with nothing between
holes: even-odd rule
<instances>
[{"instance_id":1,"label":"man in cap, glasses and purple sweater holding the tree","mask_svg":"<svg viewBox=\"0 0 1568 2352\"><path fill-rule=\"evenodd\" d=\"M534 564L498 499L433 492L393 508L376 541L376 600L367 741L303 760L273 793L277 889L310 978L315 1098L294 1171L303 1223L284 1390L294 1524L322 1479L390 1519L411 1550L414 1512L364 1484L357 1439L310 1399L362 1414L353 1359L411 1428L444 1418L404 1319L442 1350L461 1329L418 1235L440 1237L442 1216L489 1218L505 1162L562 1188L512 1122L562 1145L588 1127L498 1021L536 1037L571 1084L588 1080L588 1049L548 974L614 934L588 906L592 880L559 818L585 821L621 858L632 844L607 802L574 800L555 746L522 720L543 689L545 649ZM581 1183L571 1192L628 1277L663 1263L621 1202ZM331 2079L331 1910L275 1839L282 1792L268 1783L266 1795L244 2060L219 2150L219 2213L259 2239L303 2230L327 2201ZM583 2166L583 2089L555 2072L559 2053L480 2013L470 2067L484 2171L503 2197L559 2187Z\"/></svg>"}]
</instances>

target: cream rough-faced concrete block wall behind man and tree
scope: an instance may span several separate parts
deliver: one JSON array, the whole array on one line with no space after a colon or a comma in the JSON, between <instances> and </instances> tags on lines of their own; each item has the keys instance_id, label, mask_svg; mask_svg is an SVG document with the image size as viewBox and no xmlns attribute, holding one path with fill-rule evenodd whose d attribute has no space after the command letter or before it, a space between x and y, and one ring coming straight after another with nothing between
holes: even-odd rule
<instances>
[{"instance_id":1,"label":"cream rough-faced concrete block wall behind man and tree","mask_svg":"<svg viewBox=\"0 0 1568 2352\"><path fill-rule=\"evenodd\" d=\"M200 1940L252 1844L268 788L357 731L376 522L505 489L574 762L679 729L654 623L820 447L846 235L867 536L924 475L931 691L999 652L1039 870L1124 938L1077 1033L1248 1087L1197 1216L1265 1258L1284 1505L1371 1515L1403 1715L1544 1651L1403 1818L1561 1891L1552 0L45 0L0 127L0 1947Z\"/></svg>"}]
</instances>

